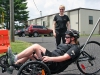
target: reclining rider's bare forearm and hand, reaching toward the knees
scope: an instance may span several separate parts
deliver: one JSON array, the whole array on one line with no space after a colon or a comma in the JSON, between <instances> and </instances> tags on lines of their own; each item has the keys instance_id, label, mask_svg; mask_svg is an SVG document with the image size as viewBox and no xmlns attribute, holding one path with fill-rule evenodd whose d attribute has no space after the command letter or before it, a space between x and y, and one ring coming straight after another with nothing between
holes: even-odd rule
<instances>
[{"instance_id":1,"label":"reclining rider's bare forearm and hand, reaching toward the knees","mask_svg":"<svg viewBox=\"0 0 100 75\"><path fill-rule=\"evenodd\" d=\"M48 62L48 61L62 62L62 61L68 60L70 58L71 57L66 53L63 56L58 56L58 57L48 57L48 56L44 56L43 57L43 61L44 62Z\"/></svg>"}]
</instances>

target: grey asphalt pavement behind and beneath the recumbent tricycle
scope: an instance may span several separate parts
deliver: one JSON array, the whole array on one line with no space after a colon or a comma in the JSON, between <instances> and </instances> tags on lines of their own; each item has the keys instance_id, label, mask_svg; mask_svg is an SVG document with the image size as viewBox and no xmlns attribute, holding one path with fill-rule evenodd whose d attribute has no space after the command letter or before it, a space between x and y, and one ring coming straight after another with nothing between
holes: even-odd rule
<instances>
[{"instance_id":1,"label":"grey asphalt pavement behind and beneath the recumbent tricycle","mask_svg":"<svg viewBox=\"0 0 100 75\"><path fill-rule=\"evenodd\" d=\"M83 43L85 43L87 37L88 36L81 36L80 37L79 41L80 41L81 45ZM26 42L30 42L30 43L33 43L33 44L38 43L38 44L44 46L45 48L47 48L50 51L56 49L56 43L55 43L54 37L31 37L31 38L29 38L27 36L26 37L17 37L16 36L15 40L26 41ZM100 36L93 36L90 40L100 42ZM12 75L16 75L16 74L17 74L17 71L14 71L14 73ZM1 73L1 71L0 71L0 75L10 75L10 74ZM76 64L72 64L64 72L57 74L57 75L80 75L80 71L77 69Z\"/></svg>"}]
</instances>

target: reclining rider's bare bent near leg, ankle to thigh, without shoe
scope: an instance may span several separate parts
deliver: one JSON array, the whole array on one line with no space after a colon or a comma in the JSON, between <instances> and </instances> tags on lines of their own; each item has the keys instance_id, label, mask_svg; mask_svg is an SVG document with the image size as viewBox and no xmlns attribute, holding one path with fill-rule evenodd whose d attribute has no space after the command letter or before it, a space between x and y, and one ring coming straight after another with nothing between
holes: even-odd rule
<instances>
[{"instance_id":1,"label":"reclining rider's bare bent near leg, ankle to thigh, without shoe","mask_svg":"<svg viewBox=\"0 0 100 75\"><path fill-rule=\"evenodd\" d=\"M22 51L21 53L17 54L17 59L21 59L23 57L29 57L30 55L33 54L33 52L36 53L36 55L41 58L41 52L43 52L45 54L46 52L46 48L40 46L39 44L34 44L28 48L26 48L24 51Z\"/></svg>"}]
</instances>

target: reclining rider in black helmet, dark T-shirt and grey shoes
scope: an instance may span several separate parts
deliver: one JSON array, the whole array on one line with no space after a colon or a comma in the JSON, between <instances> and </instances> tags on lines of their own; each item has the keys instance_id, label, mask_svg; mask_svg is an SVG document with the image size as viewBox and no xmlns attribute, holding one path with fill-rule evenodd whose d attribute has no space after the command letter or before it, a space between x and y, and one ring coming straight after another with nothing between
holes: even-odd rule
<instances>
[{"instance_id":1,"label":"reclining rider in black helmet, dark T-shirt and grey shoes","mask_svg":"<svg viewBox=\"0 0 100 75\"><path fill-rule=\"evenodd\" d=\"M12 51L8 49L9 64L24 63L29 58L34 60L33 52L35 52L36 58L42 59L45 63L52 62L48 66L52 74L63 71L68 65L74 62L80 54L77 41L79 33L76 30L71 29L66 31L65 34L65 44L58 45L57 49L52 52L39 44L34 44L17 55L14 55ZM43 57L41 52L44 53Z\"/></svg>"}]
</instances>

